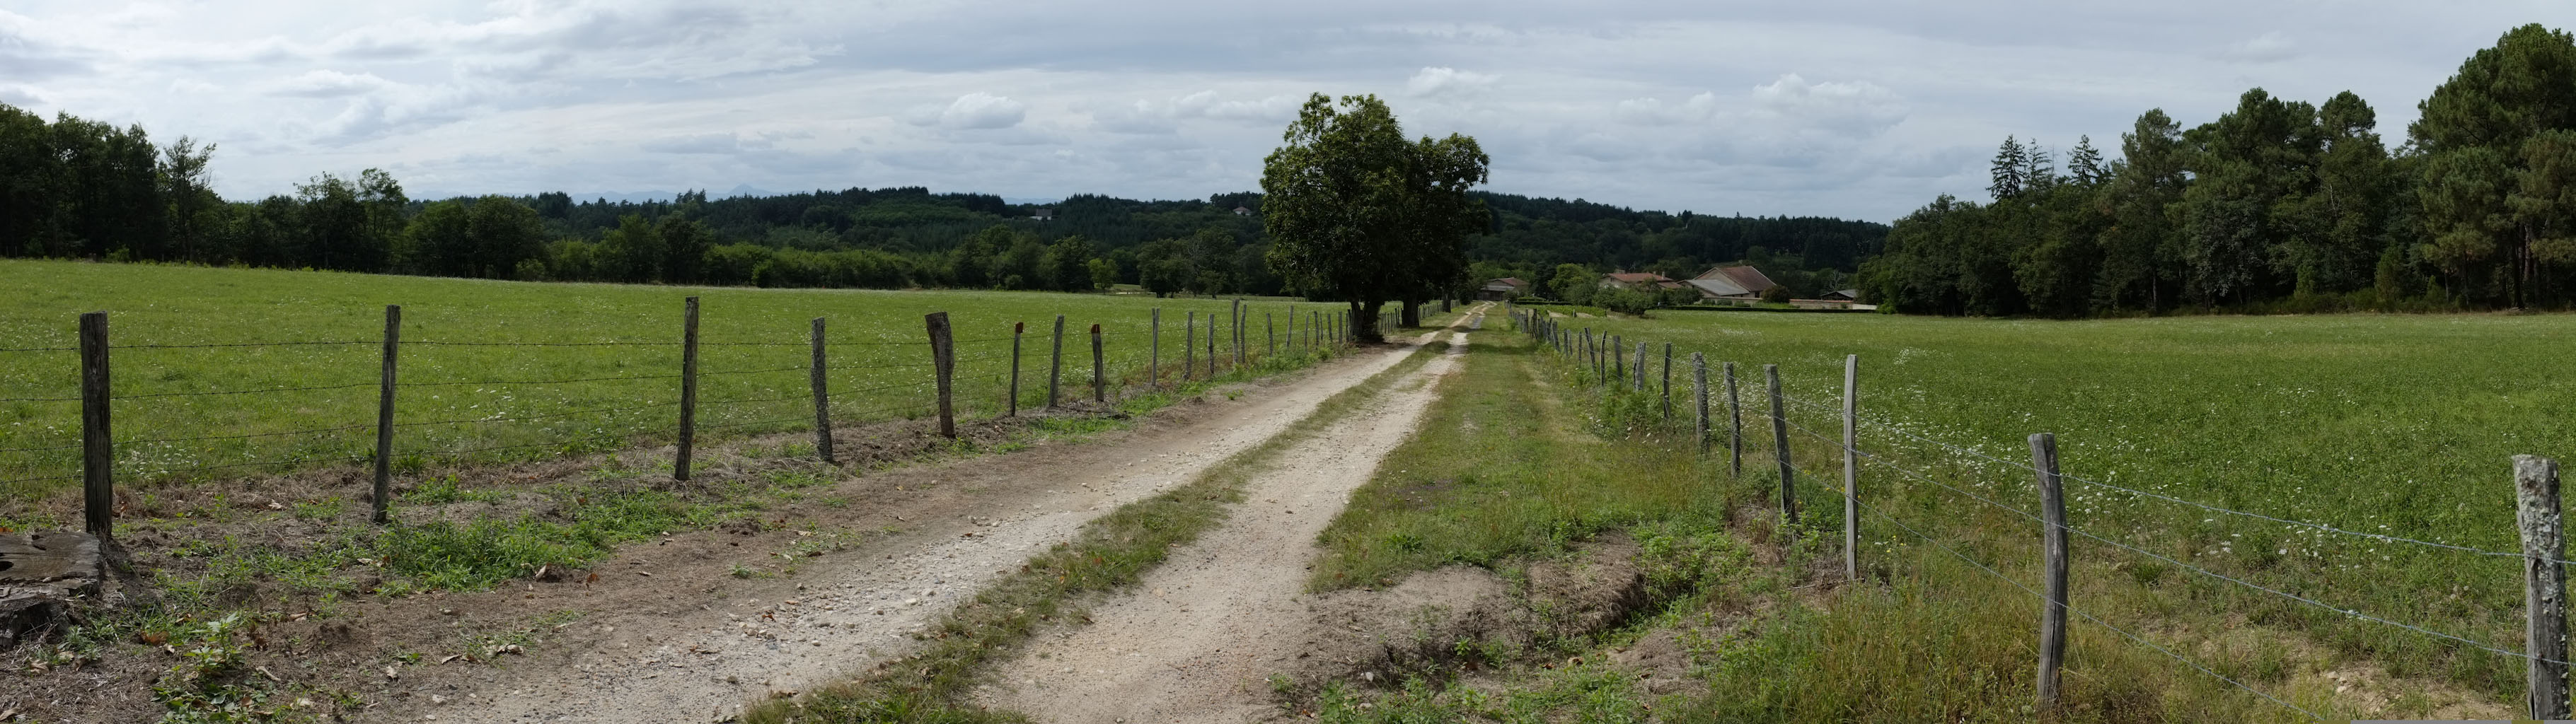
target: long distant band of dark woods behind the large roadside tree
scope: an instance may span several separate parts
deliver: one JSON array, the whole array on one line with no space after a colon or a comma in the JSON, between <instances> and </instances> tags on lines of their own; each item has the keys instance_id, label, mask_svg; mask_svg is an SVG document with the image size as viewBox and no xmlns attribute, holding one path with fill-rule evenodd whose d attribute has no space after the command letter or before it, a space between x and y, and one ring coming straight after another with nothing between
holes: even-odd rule
<instances>
[{"instance_id":1,"label":"long distant band of dark woods behind the large roadside tree","mask_svg":"<svg viewBox=\"0 0 2576 724\"><path fill-rule=\"evenodd\" d=\"M227 201L209 188L214 152L188 137L157 147L142 126L70 113L46 121L0 106L0 255L523 281L1332 294L1285 289L1270 273L1260 193L1072 196L1043 206L927 188L737 198L690 191L647 204L567 193L415 201L389 173L363 170ZM1461 291L1494 276L1538 278L1561 263L1692 276L1731 260L1829 289L1886 237L1870 222L1476 196L1492 232L1471 237L1468 258L1484 276L1461 278Z\"/></svg>"}]
</instances>

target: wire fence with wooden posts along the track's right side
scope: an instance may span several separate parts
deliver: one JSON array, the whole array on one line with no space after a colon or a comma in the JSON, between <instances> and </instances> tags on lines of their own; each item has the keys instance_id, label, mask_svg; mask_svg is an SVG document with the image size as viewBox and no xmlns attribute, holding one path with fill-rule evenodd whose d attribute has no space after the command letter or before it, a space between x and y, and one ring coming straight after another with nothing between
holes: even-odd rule
<instances>
[{"instance_id":1,"label":"wire fence with wooden posts along the track's right side","mask_svg":"<svg viewBox=\"0 0 2576 724\"><path fill-rule=\"evenodd\" d=\"M1512 314L1512 319L1515 319L1515 325L1522 332L1533 335L1540 345L1556 350L1566 361L1569 374L1577 376L1582 384L1600 386L1607 394L1646 394L1646 392L1674 394L1674 392L1664 392L1664 386L1662 386L1659 379L1649 381L1646 374L1643 374L1643 368L1636 368L1636 366L1646 363L1646 358L1633 358L1636 353L1631 348L1633 345L1631 340L1620 340L1618 335L1610 335L1607 330L1582 330L1582 327L1579 330L1566 330L1561 322L1556 322L1551 317L1530 314L1530 312ZM1690 356L1690 350L1682 350L1682 353ZM1695 358L1710 358L1710 356L1708 353L1698 353ZM1847 366L1844 394L1850 397L1852 394L1852 379L1857 376L1857 358L1852 358L1847 363L1850 366ZM1708 366L1718 368L1721 363L1718 361L1708 361ZM1685 368L1687 368L1687 361L1685 361ZM1744 366L1744 368L1749 371L1752 366ZM1731 374L1731 368L1728 368L1728 374ZM1692 384L1692 381L1685 379L1685 386L1687 384ZM1710 384L1716 384L1716 379ZM1739 384L1739 379L1726 376L1726 384ZM2190 557L2161 554L2161 551L2154 549L2156 544L2128 538L2128 533L2107 533L2107 531L2097 531L2097 528L2089 528L2089 526L2074 526L2074 523L2050 523L2045 515L2040 515L2040 513L2035 513L2035 510L2030 510L2025 505L2014 505L2014 502L1999 500L1999 495L1994 492L1996 487L1991 482L1986 482L1986 479L1978 479L1978 477L1981 477L1981 469L1986 469L1986 466L2002 466L2004 472L2027 474L2030 479L2040 479L2043 490L2050 487L2050 484L2066 482L2066 484L2092 487L2092 490L2115 492L2115 495L2133 495L2133 497L2146 497L2146 500L2161 500L2161 502L2172 502L2172 505L2182 505L2182 508L2192 508L2192 510L2213 513L2213 515L2233 515L2233 518L2244 518L2244 520L2262 520L2262 523L2293 526L2293 528L2306 528L2306 531L2316 531L2316 533L2347 536L2347 538L2357 538L2357 541L2411 546L2411 549L2419 549L2419 551L2468 554L2468 557L2476 557L2476 559L2522 559L2522 562L2527 562L2532 567L2540 567L2540 564L2566 567L2566 564L2576 564L2576 562L2568 562L2563 557L2550 557L2550 554L2496 551L2496 549L2481 549L2481 546L2421 541L2421 538L2393 536L2393 533L2349 531L2349 528L2329 526L2329 523L2313 523L2313 520L2298 520L2298 518L2285 518L2285 515L2267 515L2267 513L2236 510L2236 508L2210 505L2210 502L2187 500L2187 497L2177 497L2177 495L2164 495L2164 492L2148 492L2148 490L2138 490L2138 487L2110 484L2110 482L2099 482L2099 479L2089 479L2089 477L2076 477L2076 474L2058 472L2056 469L2056 453L2053 453L2053 448L2048 453L2048 466L2040 466L2035 461L2014 461L2014 459L2004 459L2004 456L1994 456L1994 453L1978 451L1973 446L1960 446L1960 443L1950 443L1950 441L1919 435L1914 430L1906 430L1906 425L1896 425L1891 420L1878 420L1878 417L1870 417L1870 415L1860 415L1857 405L1844 407L1847 399L1821 402L1821 399L1803 399L1798 394L1788 394L1788 392L1777 389L1777 376L1775 374L1767 381L1757 381L1757 384L1767 384L1770 389L1767 392L1754 392L1752 397L1736 397L1734 394L1736 389L1728 389L1726 394L1708 394L1703 399L1708 399L1710 407L1716 407L1716 410L1703 407L1703 410L1698 410L1695 420L1677 417L1674 423L1695 423L1700 430L1708 430L1703 435L1710 435L1710 433L1713 435L1726 435L1726 441L1716 443L1716 448L1718 448L1718 453L1731 456L1731 461L1734 461L1736 469L1741 469L1744 461L1752 453L1770 453L1770 456L1775 456L1777 464L1780 464L1780 469L1790 477L1790 479L1783 482L1783 492L1780 492L1780 500L1777 500L1777 505L1783 508L1783 520L1795 520L1798 502L1790 497L1790 490L1811 490L1811 492L1819 492L1824 500L1842 497L1842 500L1852 502L1852 508L1847 508L1847 510L1852 510L1855 515L1857 513L1875 515L1875 518L1896 526L1899 531L1904 531L1909 538L1929 544L1929 546L1935 546L1935 549L1955 557L1958 562L1963 562L1963 564L1968 564L1968 567L1973 567L1973 569L1978 569L1978 572L1984 572L1984 575L1989 575L1994 580L2007 582L2012 590L2020 590L2025 595L2038 598L2040 605L2050 605L2053 603L2050 595L2035 590L2032 585L2025 585L2025 582L2014 580L2012 575L2004 575L1996 564L1981 562L1971 551L1963 551L1965 549L1963 541L1945 541L1937 533L1927 533L1927 528L1932 528L1932 526L1922 526L1919 520L1917 523L1901 520L1899 515L1883 510L1880 505L1873 505L1870 500L1860 497L1855 490L1844 487L1844 477L1816 474L1811 466L1798 464L1801 461L1801 448L1808 451L1803 459L1814 459L1814 453L1832 453L1832 456L1842 456L1842 459L1847 459L1852 464L1852 469L1844 472L1847 477L1862 477L1862 472L1878 472L1878 474L1873 474L1875 479L1880 479L1875 484L1878 490L1883 490L1886 479L1893 477L1893 479L1899 479L1904 484L1922 484L1927 490L1937 490L1937 492L1945 492L1945 495L1955 495L1958 500L1968 500L1976 508L2004 513L2009 520L2040 523L2043 533L2056 531L2056 533L2066 533L2066 536L2079 536L2084 541L2105 546L2107 551L2117 551L2117 554L2138 557L2138 559L2146 559L2146 562L2156 562L2156 564L2187 572L2192 577L2208 580L2210 585L2221 585L2221 587L2231 587L2231 590L2244 590L2244 593L2257 595L2257 598L2269 598L2269 600L2277 600L2282 605L2318 611L2318 613L2326 613L2326 616L2342 618L2342 621L2357 621L2357 624L2367 624L2367 626L2383 626L2383 629L2396 631L2396 634L2421 636L2427 642L2434 642L2434 644L2442 644L2442 647L2455 647L2455 649L2463 649L2463 652L2496 654L2496 657L2514 660L2514 662L2524 662L2527 667L2535 670L2535 675L2532 675L2532 680L2535 680L2535 685L2532 685L2535 688L2532 703L2537 706L2535 716L2553 719L2553 714L2563 714L2566 711L2568 701L2563 698L2563 693L2566 693L2563 680L2566 680L2566 670L2571 667L2571 662L2566 660L2566 652L2563 652L2563 642L2566 642L2563 634L2558 634L2561 649L2555 649L2555 652L2524 652L2524 649L2501 647L2501 644L2478 639L2478 636L2491 636L2491 631L2478 631L2478 634L2442 631L2442 626L2434 626L2434 624L2427 624L2427 621L2401 621L2401 616L2362 611L2360 605L2329 603L2329 595L2324 595L2324 593L2300 590L2300 587L2313 587L2316 582L2306 582L2306 585L2300 585L2298 580L2262 582L2262 580L2254 580L2249 575L2228 575L2228 572L2213 569L2210 564L2190 562ZM1677 394L1685 394L1682 399L1687 399L1687 394L1700 394L1700 392L1685 389L1685 392L1677 392ZM1767 405L1775 405L1780 410L1780 415L1775 415L1772 410L1765 410ZM1685 402L1682 410L1687 410L1687 407L1690 407L1690 402ZM1726 417L1716 417L1713 420L1710 415L1726 415ZM1911 446L1914 451L1924 451L1929 459L1973 461L1976 466L1968 469L1968 472L1960 472L1960 469L1935 472L1932 466L1909 464L1904 459L1896 459L1888 451L1852 443L1852 441L1842 438L1839 430L1837 433L1814 430L1814 428L1803 425L1795 415L1821 415L1826 420L1837 420L1842 425L1850 425L1857 438L1899 441L1901 443L1899 448ZM1690 417L1690 412L1685 412L1685 417ZM1728 417L1741 420L1741 423L1728 423ZM1777 425L1777 441L1770 441L1772 435L1767 430L1747 435L1744 425L1757 425L1757 428L1759 425ZM1893 433L1893 435L1888 435L1888 433ZM1795 438L1790 438L1790 435L1795 435ZM1752 443L1752 446L1747 448L1747 443ZM1703 438L1700 446L1710 448L1713 441ZM1762 472L1765 466L1754 464L1752 469ZM1989 490L1989 492L1978 492L1978 490ZM2550 482L2550 490L2555 490L2555 479ZM1886 497L1901 497L1906 492L1896 490L1896 492L1880 492L1880 495L1886 495ZM2045 495L2056 495L2056 492L2043 492L2043 497ZM1935 502L1919 500L1919 505L1935 505ZM1935 508L1927 508L1927 510L1940 510L1940 508L1935 505ZM2550 502L2548 510L2550 510L2550 520L2555 520L2555 502ZM1839 523L1839 528L1855 528L1855 531L1860 528L1857 518L1850 518L1850 520L1821 520L1819 526L1832 528L1834 523ZM2550 523L2548 528L2558 528L2558 526ZM1986 528L1971 528L1971 531L1973 533L1986 533L1986 538L1991 544L1991 531L1986 531ZM2555 536L2555 533L2550 533L2550 536ZM1847 546L1852 546L1852 541L1857 541L1857 538L1847 538ZM2558 551L2555 546L2543 546L2543 549ZM1857 559L1857 551L1847 551L1847 554ZM2537 600L2550 600L2553 605L2566 605L2563 590L2555 590L2553 595L2540 598L2537 582L2535 582L2535 598ZM2298 716L2306 716L2306 719L2313 719L2313 721L2329 721L2326 716L2321 716L2318 711L2313 711L2308 706L2298 706L2298 703L2293 703L2293 701L2287 701L2287 698L2282 698L2282 696L2277 696L2272 691L2251 685L2244 678L2228 678L2218 667L2205 665L2200 660L2192 660L2192 657L2177 652L2177 649L2190 649L2190 647L2151 642L2148 636L2141 636L2138 631L2115 626L2115 624L2099 618L2097 613L2076 608L2076 605L2071 605L2066 600L2056 600L2056 605L2063 608L2066 613L2071 613L2071 616L2076 616L2081 621L2089 621L2094 626L2102 626L2102 629L2107 629L2107 631L2112 631L2112 634L2117 634L2117 636L2123 636L2123 639L2128 639L2128 642L2133 642L2133 644L2138 644L2143 649L2151 649L2156 654L2172 657L2174 662L2184 665L2192 672L2208 675L2208 678L2213 678L2218 683L2226 683L2228 688L2244 691L2244 693L2249 693L2249 696L2254 696L2259 701L2280 706L2282 711L2290 711L2290 714L2298 714ZM2532 616L2537 621L2540 613L2532 613ZM2555 624L2555 626L2563 631L2563 621ZM2545 678L2555 678L2558 680L2555 693L2550 693L2550 696L2555 696L2555 701L2545 701L2548 696L2543 696L2543 691L2548 685L2537 683L2537 680L2545 680ZM2048 693L2043 693L2043 696L2048 696ZM2045 706L2045 701L2043 701L2043 706ZM2555 706L2555 709L2550 709L2550 706Z\"/></svg>"}]
</instances>

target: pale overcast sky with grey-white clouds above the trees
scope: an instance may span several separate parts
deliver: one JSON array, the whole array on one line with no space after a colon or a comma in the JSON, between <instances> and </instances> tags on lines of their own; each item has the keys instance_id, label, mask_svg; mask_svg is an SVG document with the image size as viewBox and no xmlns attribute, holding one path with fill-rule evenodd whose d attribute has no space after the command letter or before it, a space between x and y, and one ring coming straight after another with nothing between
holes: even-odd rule
<instances>
[{"instance_id":1,"label":"pale overcast sky with grey-white clouds above the trees","mask_svg":"<svg viewBox=\"0 0 2576 724\"><path fill-rule=\"evenodd\" d=\"M2561 3L116 3L0 8L0 103L219 144L227 198L1260 186L1306 93L1471 134L1492 191L1893 219L2004 134L2117 155L2146 108L2414 103ZM2555 10L2555 13L2553 13Z\"/></svg>"}]
</instances>

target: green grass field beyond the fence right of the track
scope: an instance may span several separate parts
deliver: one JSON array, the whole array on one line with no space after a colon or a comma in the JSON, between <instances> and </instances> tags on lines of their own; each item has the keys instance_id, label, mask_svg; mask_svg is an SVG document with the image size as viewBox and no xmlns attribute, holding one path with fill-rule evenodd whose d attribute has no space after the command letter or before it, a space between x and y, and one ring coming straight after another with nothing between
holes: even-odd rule
<instances>
[{"instance_id":1,"label":"green grass field beyond the fence right of the track","mask_svg":"<svg viewBox=\"0 0 2576 724\"><path fill-rule=\"evenodd\" d=\"M2164 557L2076 536L2076 611L2148 631L2221 662L2221 672L2280 691L2313 688L2295 662L2367 662L2391 678L2445 680L2491 696L2522 691L2519 657L2476 647L2522 649L2514 557L2272 523L2105 484L2342 531L2519 551L2509 459L2571 453L2576 420L2563 410L2576 392L2563 376L2563 340L2576 332L2576 317L1664 314L1558 322L1623 335L1631 353L1649 340L1649 386L1662 374L1662 345L1674 343L1685 358L1674 371L1685 399L1687 353L1710 358L1713 384L1721 379L1716 366L1734 361L1747 402L1741 502L1777 505L1762 363L1780 363L1788 417L1798 425L1790 448L1803 472L1808 538L1826 538L1819 544L1824 557L1839 557L1834 490L1842 461L1829 438L1839 435L1842 356L1857 353L1860 448L1886 459L1862 464L1862 497L2022 585L2038 587L2038 523L1965 492L2038 510L2025 438L2056 433L2063 472L2079 477L2066 484L2069 526ZM1723 394L1716 399L1723 456ZM1651 417L1641 415L1649 405L1610 394L1602 415ZM1924 616L2002 616L2012 621L1996 621L1994 631L2027 629L2027 616L2002 613L2022 611L2017 598L2025 593L1945 562L1947 551L1873 513L1862 531L1862 559L1875 575L1937 567L1960 580L1932 590L2007 603L1917 600ZM1888 616L1888 608L1852 605L1834 616Z\"/></svg>"}]
</instances>

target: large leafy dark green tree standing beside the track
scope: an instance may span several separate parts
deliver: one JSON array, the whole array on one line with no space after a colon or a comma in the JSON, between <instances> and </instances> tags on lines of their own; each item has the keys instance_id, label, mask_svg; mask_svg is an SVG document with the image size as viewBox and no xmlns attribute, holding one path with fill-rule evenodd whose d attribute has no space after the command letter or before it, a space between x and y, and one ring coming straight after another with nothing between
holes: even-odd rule
<instances>
[{"instance_id":1,"label":"large leafy dark green tree standing beside the track","mask_svg":"<svg viewBox=\"0 0 2576 724\"><path fill-rule=\"evenodd\" d=\"M1321 93L1262 165L1270 271L1306 294L1334 294L1352 332L1383 340L1378 309L1430 299L1466 273L1466 237L1489 224L1468 191L1486 180L1476 139L1406 142L1376 95Z\"/></svg>"}]
</instances>

